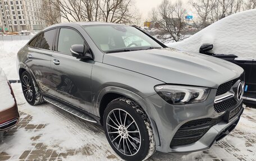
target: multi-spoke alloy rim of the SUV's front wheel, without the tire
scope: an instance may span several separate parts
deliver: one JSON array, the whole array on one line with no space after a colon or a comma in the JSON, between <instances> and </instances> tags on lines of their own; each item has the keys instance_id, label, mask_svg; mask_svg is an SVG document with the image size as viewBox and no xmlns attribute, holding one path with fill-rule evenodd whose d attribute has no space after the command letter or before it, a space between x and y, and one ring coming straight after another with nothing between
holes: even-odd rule
<instances>
[{"instance_id":1,"label":"multi-spoke alloy rim of the SUV's front wheel, without the tire","mask_svg":"<svg viewBox=\"0 0 256 161\"><path fill-rule=\"evenodd\" d=\"M138 153L140 131L129 113L123 109L113 109L108 113L106 127L109 139L118 151L127 156Z\"/></svg>"}]
</instances>

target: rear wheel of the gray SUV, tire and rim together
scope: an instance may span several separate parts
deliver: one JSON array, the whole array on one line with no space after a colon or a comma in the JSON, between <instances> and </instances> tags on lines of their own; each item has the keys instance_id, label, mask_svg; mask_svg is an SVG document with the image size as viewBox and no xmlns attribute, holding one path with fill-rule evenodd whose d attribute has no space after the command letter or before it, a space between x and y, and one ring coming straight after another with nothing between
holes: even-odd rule
<instances>
[{"instance_id":1,"label":"rear wheel of the gray SUV, tire and rim together","mask_svg":"<svg viewBox=\"0 0 256 161\"><path fill-rule=\"evenodd\" d=\"M31 105L44 103L44 98L39 94L38 87L27 71L21 75L21 87L26 101Z\"/></svg>"}]
</instances>

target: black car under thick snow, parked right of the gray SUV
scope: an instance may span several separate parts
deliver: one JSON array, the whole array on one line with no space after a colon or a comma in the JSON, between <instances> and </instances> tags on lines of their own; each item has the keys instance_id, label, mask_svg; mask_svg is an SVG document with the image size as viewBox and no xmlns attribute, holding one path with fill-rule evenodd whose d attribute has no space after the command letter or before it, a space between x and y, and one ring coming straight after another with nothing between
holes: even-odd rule
<instances>
[{"instance_id":1,"label":"black car under thick snow, parked right of the gray SUV","mask_svg":"<svg viewBox=\"0 0 256 161\"><path fill-rule=\"evenodd\" d=\"M256 103L256 9L236 13L168 47L225 59L245 71L244 102Z\"/></svg>"}]
</instances>

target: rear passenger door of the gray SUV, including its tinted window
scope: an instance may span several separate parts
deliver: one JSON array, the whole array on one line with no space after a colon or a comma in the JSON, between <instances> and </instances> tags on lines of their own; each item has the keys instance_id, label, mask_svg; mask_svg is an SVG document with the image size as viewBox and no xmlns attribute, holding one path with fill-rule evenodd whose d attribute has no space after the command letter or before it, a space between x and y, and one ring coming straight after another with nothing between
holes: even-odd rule
<instances>
[{"instance_id":1,"label":"rear passenger door of the gray SUV, including its tinted window","mask_svg":"<svg viewBox=\"0 0 256 161\"><path fill-rule=\"evenodd\" d=\"M53 52L53 42L57 29L43 31L29 43L28 61L36 82L41 91L52 94L51 91L51 57Z\"/></svg>"}]
</instances>

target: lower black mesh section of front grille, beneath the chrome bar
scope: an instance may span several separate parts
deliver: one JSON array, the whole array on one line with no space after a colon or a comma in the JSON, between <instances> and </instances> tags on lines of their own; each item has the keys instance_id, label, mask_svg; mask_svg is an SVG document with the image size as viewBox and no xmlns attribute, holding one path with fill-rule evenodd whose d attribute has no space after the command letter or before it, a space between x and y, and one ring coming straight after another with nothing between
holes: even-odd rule
<instances>
[{"instance_id":1,"label":"lower black mesh section of front grille, beneath the chrome bar","mask_svg":"<svg viewBox=\"0 0 256 161\"><path fill-rule=\"evenodd\" d=\"M219 103L214 103L214 110L216 112L220 113L220 112L226 111L227 109L234 107L234 105L236 105L236 104L237 104L237 101L233 97L233 98L224 100Z\"/></svg>"}]
</instances>

